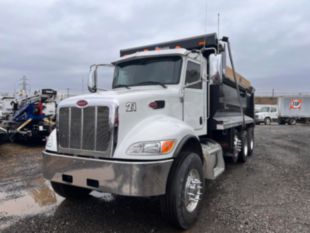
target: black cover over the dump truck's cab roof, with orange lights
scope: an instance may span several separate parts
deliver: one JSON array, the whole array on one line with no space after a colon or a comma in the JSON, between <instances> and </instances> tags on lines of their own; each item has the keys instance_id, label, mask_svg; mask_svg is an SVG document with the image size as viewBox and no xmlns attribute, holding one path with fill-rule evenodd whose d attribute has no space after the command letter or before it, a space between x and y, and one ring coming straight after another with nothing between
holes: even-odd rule
<instances>
[{"instance_id":1,"label":"black cover over the dump truck's cab roof, with orange lights","mask_svg":"<svg viewBox=\"0 0 310 233\"><path fill-rule=\"evenodd\" d=\"M212 33L212 34L205 34L201 36L189 37L189 38L162 42L162 43L157 43L157 44L152 44L152 45L140 46L140 47L129 48L129 49L122 49L120 51L120 55L122 57L122 56L130 55L136 52L152 51L152 50L158 50L158 49L184 48L187 50L196 50L196 49L202 49L203 47L217 48L217 45L218 45L217 35L216 33Z\"/></svg>"}]
</instances>

